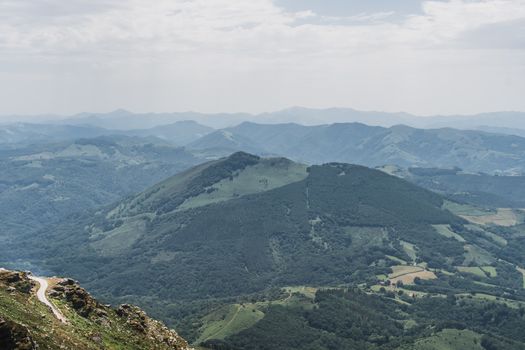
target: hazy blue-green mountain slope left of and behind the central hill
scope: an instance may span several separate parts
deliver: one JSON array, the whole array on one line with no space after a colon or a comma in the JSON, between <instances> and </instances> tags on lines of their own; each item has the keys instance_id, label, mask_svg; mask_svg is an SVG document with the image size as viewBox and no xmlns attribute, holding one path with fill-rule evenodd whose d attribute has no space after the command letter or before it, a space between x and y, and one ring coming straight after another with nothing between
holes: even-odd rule
<instances>
[{"instance_id":1,"label":"hazy blue-green mountain slope left of and behind the central hill","mask_svg":"<svg viewBox=\"0 0 525 350\"><path fill-rule=\"evenodd\" d=\"M0 152L0 240L120 200L199 163L144 138L101 137Z\"/></svg>"}]
</instances>

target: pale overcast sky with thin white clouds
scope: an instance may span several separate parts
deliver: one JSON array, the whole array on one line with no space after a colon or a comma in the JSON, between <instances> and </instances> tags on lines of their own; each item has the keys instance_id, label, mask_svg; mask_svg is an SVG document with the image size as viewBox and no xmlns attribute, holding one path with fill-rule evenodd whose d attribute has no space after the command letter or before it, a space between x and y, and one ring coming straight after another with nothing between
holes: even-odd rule
<instances>
[{"instance_id":1,"label":"pale overcast sky with thin white clouds","mask_svg":"<svg viewBox=\"0 0 525 350\"><path fill-rule=\"evenodd\" d=\"M525 111L525 0L0 0L0 114Z\"/></svg>"}]
</instances>

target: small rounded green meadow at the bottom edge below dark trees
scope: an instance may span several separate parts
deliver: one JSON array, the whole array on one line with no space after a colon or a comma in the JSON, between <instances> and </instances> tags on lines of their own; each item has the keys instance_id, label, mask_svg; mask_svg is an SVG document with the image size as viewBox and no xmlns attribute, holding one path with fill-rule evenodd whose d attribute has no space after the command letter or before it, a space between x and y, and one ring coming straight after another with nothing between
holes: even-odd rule
<instances>
[{"instance_id":1,"label":"small rounded green meadow at the bottom edge below dark trees","mask_svg":"<svg viewBox=\"0 0 525 350\"><path fill-rule=\"evenodd\" d=\"M470 330L444 329L403 350L483 350L481 335Z\"/></svg>"}]
</instances>

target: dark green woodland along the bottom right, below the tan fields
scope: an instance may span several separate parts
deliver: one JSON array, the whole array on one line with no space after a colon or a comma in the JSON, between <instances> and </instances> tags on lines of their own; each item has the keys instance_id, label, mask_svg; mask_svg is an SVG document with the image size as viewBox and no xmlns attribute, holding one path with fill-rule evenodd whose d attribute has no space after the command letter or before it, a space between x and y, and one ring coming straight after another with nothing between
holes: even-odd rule
<instances>
[{"instance_id":1,"label":"dark green woodland along the bottom right, below the tan fields","mask_svg":"<svg viewBox=\"0 0 525 350\"><path fill-rule=\"evenodd\" d=\"M406 327L411 321L414 326ZM317 292L315 306L272 306L254 327L225 340L210 340L211 349L413 349L422 338L443 329L470 329L482 334L486 350L524 349L523 309L501 303L425 297L405 304L358 289ZM521 334L520 334L521 333Z\"/></svg>"}]
</instances>

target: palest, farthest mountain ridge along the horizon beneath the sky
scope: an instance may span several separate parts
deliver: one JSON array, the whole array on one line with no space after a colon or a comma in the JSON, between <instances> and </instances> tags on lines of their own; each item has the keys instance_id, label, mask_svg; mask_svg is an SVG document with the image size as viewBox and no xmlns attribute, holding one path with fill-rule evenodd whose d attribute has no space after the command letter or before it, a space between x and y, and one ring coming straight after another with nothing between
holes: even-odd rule
<instances>
[{"instance_id":1,"label":"palest, farthest mountain ridge along the horizon beneath the sky","mask_svg":"<svg viewBox=\"0 0 525 350\"><path fill-rule=\"evenodd\" d=\"M292 107L276 112L249 113L132 113L123 109L109 113L80 113L74 116L3 116L5 121L45 120L56 124L89 125L105 129L132 130L149 129L177 121L194 120L213 128L225 128L251 121L264 124L297 123L321 125L333 123L364 123L390 127L404 124L416 128L442 128L477 130L483 127L498 128L503 133L522 133L525 130L525 112L493 112L458 116L416 116L408 113L359 111L352 108L314 109Z\"/></svg>"}]
</instances>

